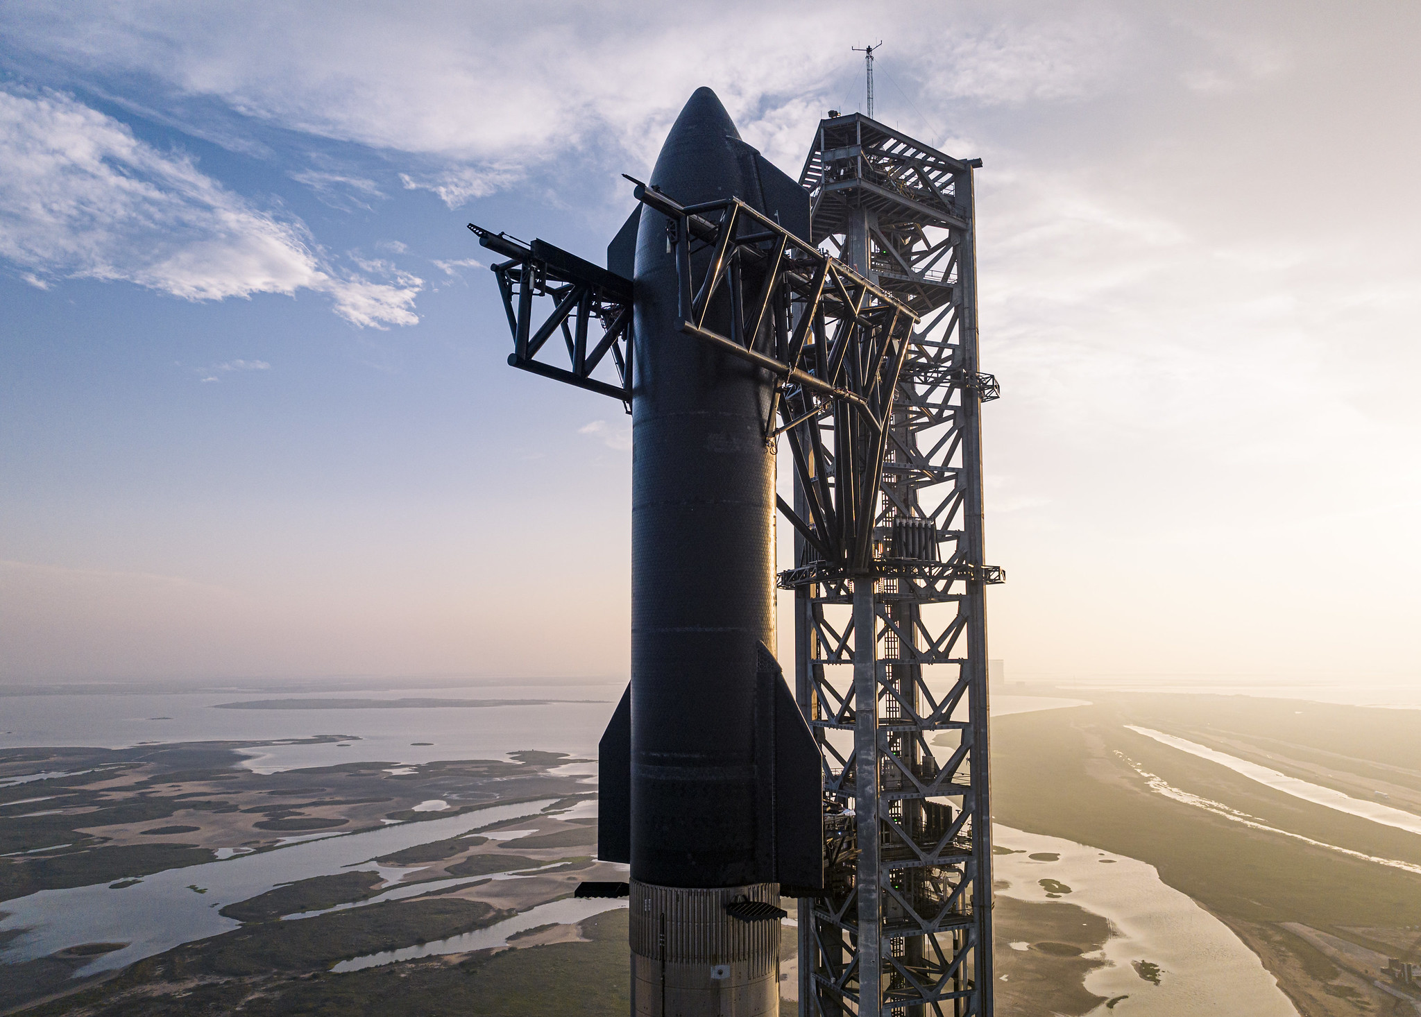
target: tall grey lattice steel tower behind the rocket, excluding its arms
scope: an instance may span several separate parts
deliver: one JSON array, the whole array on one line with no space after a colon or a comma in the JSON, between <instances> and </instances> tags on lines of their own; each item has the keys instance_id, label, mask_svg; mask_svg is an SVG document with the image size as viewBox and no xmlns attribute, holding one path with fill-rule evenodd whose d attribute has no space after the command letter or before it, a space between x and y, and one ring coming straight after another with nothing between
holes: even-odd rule
<instances>
[{"instance_id":1,"label":"tall grey lattice steel tower behind the rocket, excluding its arms","mask_svg":"<svg viewBox=\"0 0 1421 1017\"><path fill-rule=\"evenodd\" d=\"M827 889L799 905L803 1017L990 1017L992 827L972 169L867 116L821 121L813 241L925 321L898 372L872 553L796 592L800 706L824 763ZM816 423L833 447L837 420ZM837 483L810 462L796 510Z\"/></svg>"}]
</instances>

